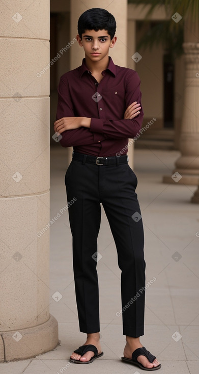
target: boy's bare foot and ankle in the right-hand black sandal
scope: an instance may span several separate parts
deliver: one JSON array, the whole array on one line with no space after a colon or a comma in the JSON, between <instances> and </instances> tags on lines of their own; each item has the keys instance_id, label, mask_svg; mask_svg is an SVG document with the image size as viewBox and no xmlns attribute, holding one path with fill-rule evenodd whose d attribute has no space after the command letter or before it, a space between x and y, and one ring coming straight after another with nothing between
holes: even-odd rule
<instances>
[{"instance_id":1,"label":"boy's bare foot and ankle in the right-hand black sandal","mask_svg":"<svg viewBox=\"0 0 199 374\"><path fill-rule=\"evenodd\" d=\"M132 353L137 349L141 348L143 345L140 343L139 338L132 338L131 336L126 337L126 345L124 348L124 357L132 358ZM137 361L148 369L153 366L156 367L159 365L159 361L155 359L153 363L149 362L146 356L140 355L137 357Z\"/></svg>"}]
</instances>

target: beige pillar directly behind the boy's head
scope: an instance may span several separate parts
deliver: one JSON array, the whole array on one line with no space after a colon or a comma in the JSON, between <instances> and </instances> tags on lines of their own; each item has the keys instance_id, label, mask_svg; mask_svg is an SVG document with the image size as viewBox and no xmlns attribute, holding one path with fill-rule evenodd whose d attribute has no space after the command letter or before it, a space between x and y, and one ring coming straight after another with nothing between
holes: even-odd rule
<instances>
[{"instance_id":1,"label":"beige pillar directly behind the boy's head","mask_svg":"<svg viewBox=\"0 0 199 374\"><path fill-rule=\"evenodd\" d=\"M81 0L71 1L71 38L77 35L77 21L79 16L90 8L104 8L110 12L117 22L116 45L109 50L109 56L116 65L127 67L127 0L114 0L108 5L106 0ZM83 48L77 43L71 48L71 69L81 65L84 57ZM133 166L133 146L128 149L129 165Z\"/></svg>"}]
</instances>

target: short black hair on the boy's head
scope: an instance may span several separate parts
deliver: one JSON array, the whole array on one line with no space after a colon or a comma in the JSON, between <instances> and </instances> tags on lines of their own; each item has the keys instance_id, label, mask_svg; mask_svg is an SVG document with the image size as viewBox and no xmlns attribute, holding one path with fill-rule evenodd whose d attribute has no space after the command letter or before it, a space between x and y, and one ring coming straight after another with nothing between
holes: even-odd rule
<instances>
[{"instance_id":1,"label":"short black hair on the boy's head","mask_svg":"<svg viewBox=\"0 0 199 374\"><path fill-rule=\"evenodd\" d=\"M80 15L77 29L80 38L86 30L107 30L110 40L112 40L116 33L116 20L107 10L92 8Z\"/></svg>"}]
</instances>

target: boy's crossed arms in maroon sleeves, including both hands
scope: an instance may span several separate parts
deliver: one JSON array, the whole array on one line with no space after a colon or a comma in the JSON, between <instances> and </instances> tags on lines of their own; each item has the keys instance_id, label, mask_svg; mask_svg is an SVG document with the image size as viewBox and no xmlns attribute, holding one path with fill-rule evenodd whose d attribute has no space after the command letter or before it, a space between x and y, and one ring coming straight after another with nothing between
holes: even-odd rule
<instances>
[{"instance_id":1,"label":"boy's crossed arms in maroon sleeves, including both hands","mask_svg":"<svg viewBox=\"0 0 199 374\"><path fill-rule=\"evenodd\" d=\"M99 118L75 117L69 90L60 80L58 88L58 110L54 131L62 134L60 143L63 147L95 144L104 139L133 138L141 128L143 110L140 105L140 79L136 72L126 82L125 102L128 108L124 119L104 120ZM67 117L64 115L67 114Z\"/></svg>"}]
</instances>

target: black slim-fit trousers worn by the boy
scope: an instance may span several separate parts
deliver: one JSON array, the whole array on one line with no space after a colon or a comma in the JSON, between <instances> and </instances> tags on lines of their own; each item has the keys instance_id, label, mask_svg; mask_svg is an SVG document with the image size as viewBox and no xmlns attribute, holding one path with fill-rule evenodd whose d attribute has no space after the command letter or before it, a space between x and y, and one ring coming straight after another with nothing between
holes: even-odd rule
<instances>
[{"instance_id":1,"label":"black slim-fit trousers worn by the boy","mask_svg":"<svg viewBox=\"0 0 199 374\"><path fill-rule=\"evenodd\" d=\"M116 310L116 315L122 314L123 335L144 335L146 263L143 222L135 193L136 175L128 163L105 166L73 159L66 171L65 185L68 203L76 198L68 211L80 331L88 334L100 331L94 254L97 252L102 203L121 269L122 308ZM135 220L132 218L134 214L134 217L138 216Z\"/></svg>"}]
</instances>

